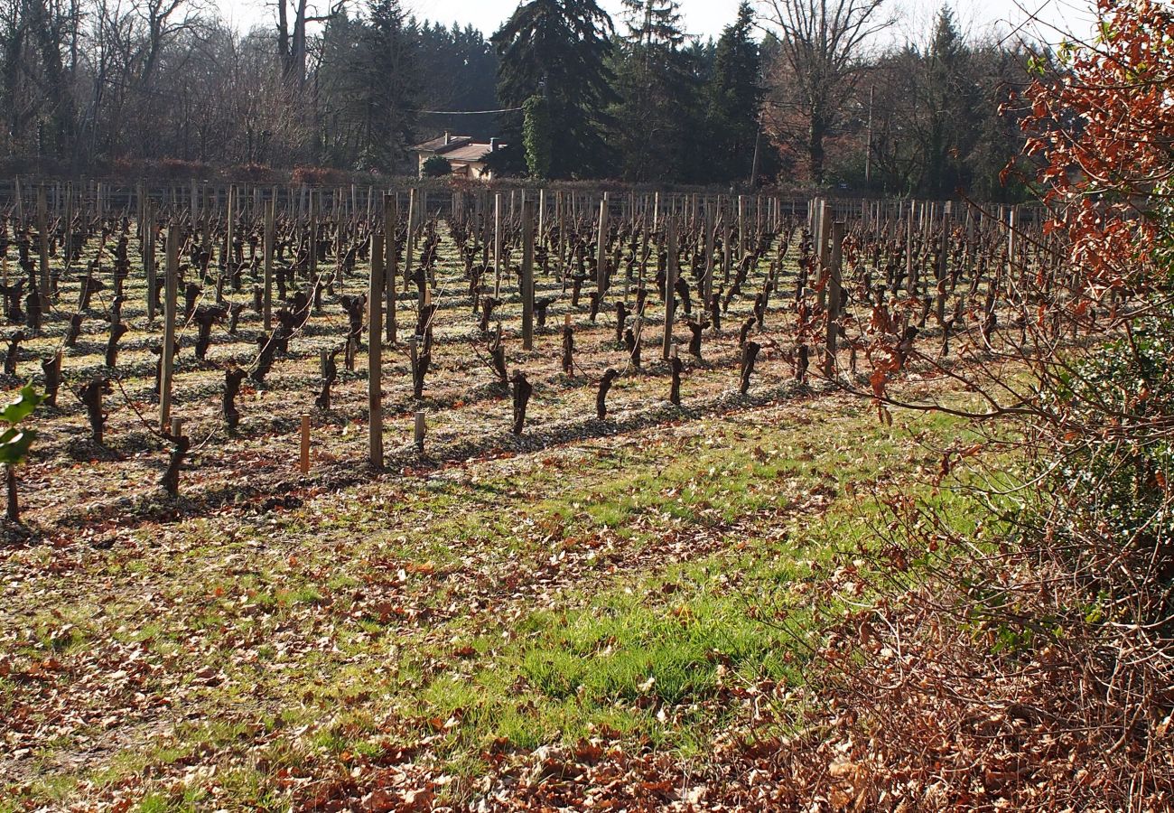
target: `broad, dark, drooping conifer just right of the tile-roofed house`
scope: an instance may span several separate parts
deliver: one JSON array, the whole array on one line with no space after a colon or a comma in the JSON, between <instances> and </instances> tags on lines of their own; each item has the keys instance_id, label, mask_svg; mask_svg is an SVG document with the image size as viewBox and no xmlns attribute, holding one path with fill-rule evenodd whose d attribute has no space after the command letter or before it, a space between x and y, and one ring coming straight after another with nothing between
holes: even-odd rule
<instances>
[{"instance_id":1,"label":"broad, dark, drooping conifer just right of the tile-roofed house","mask_svg":"<svg viewBox=\"0 0 1174 813\"><path fill-rule=\"evenodd\" d=\"M520 107L542 93L549 105L556 145L551 177L598 175L609 167L603 129L606 107L616 101L606 63L612 33L612 18L595 0L529 0L491 40L499 59L501 103ZM517 117L504 129L507 141L517 143Z\"/></svg>"}]
</instances>

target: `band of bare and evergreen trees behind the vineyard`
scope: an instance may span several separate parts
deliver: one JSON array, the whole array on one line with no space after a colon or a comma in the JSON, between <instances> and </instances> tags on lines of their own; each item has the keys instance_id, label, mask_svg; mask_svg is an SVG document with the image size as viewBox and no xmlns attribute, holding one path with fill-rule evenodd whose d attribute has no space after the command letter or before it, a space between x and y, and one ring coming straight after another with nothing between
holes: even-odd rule
<instances>
[{"instance_id":1,"label":"band of bare and evergreen trees behind the vineyard","mask_svg":"<svg viewBox=\"0 0 1174 813\"><path fill-rule=\"evenodd\" d=\"M451 130L500 136L494 170L538 180L1021 200L999 181L1023 142L1013 94L1050 59L967 39L949 5L898 45L883 0L745 2L716 40L677 0L614 20L529 0L490 35L399 0L279 0L248 32L194 0L2 6L9 170L123 180L412 174L409 148Z\"/></svg>"}]
</instances>

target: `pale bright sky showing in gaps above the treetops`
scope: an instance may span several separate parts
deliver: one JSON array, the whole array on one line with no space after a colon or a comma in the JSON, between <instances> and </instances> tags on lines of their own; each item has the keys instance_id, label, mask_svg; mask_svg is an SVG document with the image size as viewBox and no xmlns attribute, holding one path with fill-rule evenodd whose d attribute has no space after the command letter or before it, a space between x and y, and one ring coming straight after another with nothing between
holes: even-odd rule
<instances>
[{"instance_id":1,"label":"pale bright sky showing in gaps above the treetops","mask_svg":"<svg viewBox=\"0 0 1174 813\"><path fill-rule=\"evenodd\" d=\"M351 5L362 5L352 0ZM313 6L315 0L311 0ZM328 0L321 0L325 7ZM897 41L922 41L943 0L890 0L897 25L891 36ZM600 0L613 19L619 21L620 0ZM1023 25L1028 13L1045 25L1030 23L1023 33L1030 39L1058 42L1055 27L1080 32L1087 28L1087 9L1093 0L952 0L950 4L962 29L976 36L998 31L1005 35ZM492 34L518 7L518 0L403 0L404 9L420 20L432 20L464 27L472 23L486 35ZM717 39L722 28L734 20L738 0L681 0L684 28L690 34ZM255 25L271 26L274 11L264 0L220 0L227 19L241 28Z\"/></svg>"}]
</instances>

